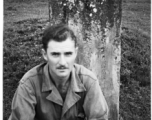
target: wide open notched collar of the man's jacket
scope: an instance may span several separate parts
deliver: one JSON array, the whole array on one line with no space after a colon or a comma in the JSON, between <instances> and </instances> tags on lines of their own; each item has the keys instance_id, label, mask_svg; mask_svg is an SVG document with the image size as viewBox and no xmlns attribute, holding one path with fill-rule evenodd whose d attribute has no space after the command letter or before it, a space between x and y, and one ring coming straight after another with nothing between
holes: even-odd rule
<instances>
[{"instance_id":1,"label":"wide open notched collar of the man's jacket","mask_svg":"<svg viewBox=\"0 0 152 120\"><path fill-rule=\"evenodd\" d=\"M82 84L78 74L76 73L75 65L71 72L71 82L67 91L65 101L61 98L60 93L51 81L49 75L49 65L46 64L43 69L43 82L42 82L42 92L51 91L51 93L46 97L46 99L63 106L62 116L71 108L79 99L81 98L77 92L86 91L84 85Z\"/></svg>"}]
</instances>

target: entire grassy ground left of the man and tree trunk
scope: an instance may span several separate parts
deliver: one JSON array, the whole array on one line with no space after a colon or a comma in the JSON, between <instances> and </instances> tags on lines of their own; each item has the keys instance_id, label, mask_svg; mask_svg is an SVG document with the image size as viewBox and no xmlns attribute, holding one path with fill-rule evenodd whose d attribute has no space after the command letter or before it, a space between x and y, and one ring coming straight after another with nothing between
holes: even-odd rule
<instances>
[{"instance_id":1,"label":"entire grassy ground left of the man and tree trunk","mask_svg":"<svg viewBox=\"0 0 152 120\"><path fill-rule=\"evenodd\" d=\"M3 120L7 120L18 81L43 61L40 36L47 24L48 11L46 2L4 3Z\"/></svg>"}]
</instances>

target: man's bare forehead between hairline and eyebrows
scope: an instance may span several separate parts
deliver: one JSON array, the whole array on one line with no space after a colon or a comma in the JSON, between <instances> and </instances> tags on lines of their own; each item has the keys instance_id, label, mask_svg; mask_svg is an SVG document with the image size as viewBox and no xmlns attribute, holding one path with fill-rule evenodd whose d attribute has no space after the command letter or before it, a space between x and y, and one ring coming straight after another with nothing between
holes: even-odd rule
<instances>
[{"instance_id":1,"label":"man's bare forehead between hairline and eyebrows","mask_svg":"<svg viewBox=\"0 0 152 120\"><path fill-rule=\"evenodd\" d=\"M71 38L65 41L57 42L54 40L49 41L47 51L50 52L66 52L75 50L75 42Z\"/></svg>"}]
</instances>

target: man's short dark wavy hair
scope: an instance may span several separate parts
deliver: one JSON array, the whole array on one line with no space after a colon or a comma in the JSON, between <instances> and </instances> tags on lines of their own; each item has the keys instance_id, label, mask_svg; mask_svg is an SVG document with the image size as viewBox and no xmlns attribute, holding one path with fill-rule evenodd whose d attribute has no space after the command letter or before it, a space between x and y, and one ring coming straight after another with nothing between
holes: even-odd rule
<instances>
[{"instance_id":1,"label":"man's short dark wavy hair","mask_svg":"<svg viewBox=\"0 0 152 120\"><path fill-rule=\"evenodd\" d=\"M51 40L62 42L67 38L71 38L75 42L75 47L77 46L77 38L74 32L66 24L49 25L43 33L42 44L44 50L47 49L48 43Z\"/></svg>"}]
</instances>

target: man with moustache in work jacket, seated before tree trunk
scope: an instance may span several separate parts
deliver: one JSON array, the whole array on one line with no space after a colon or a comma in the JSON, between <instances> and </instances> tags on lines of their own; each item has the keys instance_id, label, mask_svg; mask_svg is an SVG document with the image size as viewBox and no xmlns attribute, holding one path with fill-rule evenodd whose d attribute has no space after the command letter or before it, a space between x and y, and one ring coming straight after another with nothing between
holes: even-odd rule
<instances>
[{"instance_id":1,"label":"man with moustache in work jacket, seated before tree trunk","mask_svg":"<svg viewBox=\"0 0 152 120\"><path fill-rule=\"evenodd\" d=\"M108 107L95 75L75 63L77 39L66 25L43 34L47 61L20 81L9 120L107 120Z\"/></svg>"}]
</instances>

